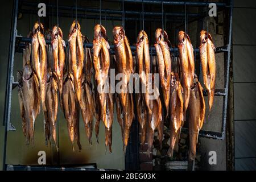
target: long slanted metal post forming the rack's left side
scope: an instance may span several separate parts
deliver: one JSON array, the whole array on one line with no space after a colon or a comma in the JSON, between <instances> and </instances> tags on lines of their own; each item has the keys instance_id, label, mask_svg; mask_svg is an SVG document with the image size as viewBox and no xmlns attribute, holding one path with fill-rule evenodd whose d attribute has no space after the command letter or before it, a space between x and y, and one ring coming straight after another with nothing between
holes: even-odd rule
<instances>
[{"instance_id":1,"label":"long slanted metal post forming the rack's left side","mask_svg":"<svg viewBox=\"0 0 256 182\"><path fill-rule=\"evenodd\" d=\"M13 14L11 20L11 36L10 36L10 46L9 46L9 58L8 58L8 70L6 78L6 93L5 93L5 113L4 113L4 123L5 124L5 135L3 140L3 161L2 169L6 170L6 147L7 147L7 130L10 124L11 116L11 90L13 87L13 63L14 63L14 53L15 53L15 36L16 36L16 26L17 26L17 16L18 16L18 4L19 1L15 0L13 2Z\"/></svg>"}]
</instances>

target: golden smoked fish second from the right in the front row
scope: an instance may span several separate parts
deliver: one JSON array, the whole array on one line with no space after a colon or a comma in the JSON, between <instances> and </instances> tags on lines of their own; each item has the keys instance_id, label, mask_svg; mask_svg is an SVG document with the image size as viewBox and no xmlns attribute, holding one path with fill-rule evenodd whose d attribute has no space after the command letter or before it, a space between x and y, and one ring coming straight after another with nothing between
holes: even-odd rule
<instances>
[{"instance_id":1,"label":"golden smoked fish second from the right in the front row","mask_svg":"<svg viewBox=\"0 0 256 182\"><path fill-rule=\"evenodd\" d=\"M193 46L189 36L184 31L179 31L179 56L181 62L183 89L184 89L184 108L183 119L185 121L185 113L188 108L191 86L195 75L195 60L193 54Z\"/></svg>"}]
</instances>

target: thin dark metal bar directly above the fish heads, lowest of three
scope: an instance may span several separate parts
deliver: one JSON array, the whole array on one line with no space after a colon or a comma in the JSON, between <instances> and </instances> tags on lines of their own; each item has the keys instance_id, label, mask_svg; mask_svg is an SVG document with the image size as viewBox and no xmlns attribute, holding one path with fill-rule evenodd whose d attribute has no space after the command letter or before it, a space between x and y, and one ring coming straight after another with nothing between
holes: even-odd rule
<instances>
[{"instance_id":1,"label":"thin dark metal bar directly above the fish heads, lowest of three","mask_svg":"<svg viewBox=\"0 0 256 182\"><path fill-rule=\"evenodd\" d=\"M19 10L19 13L23 13L23 14L35 14L37 15L38 12L36 10ZM75 13L59 13L60 17L66 17L66 18L70 18L71 16L75 15ZM56 14L52 14L51 12L48 13L48 15L50 16L56 16ZM87 19L100 19L99 15L85 15L85 14L77 14L77 18L87 18ZM108 16L108 20L119 20L122 21L122 17L121 16ZM138 17L134 17L134 18L125 18L125 20L131 20L131 21L135 21L135 20L140 20ZM162 21L162 19L159 18L144 18L145 21L147 22L152 22L152 21L156 21L156 22L160 22ZM182 22L181 19L179 18L175 18L175 19L168 19L168 21L170 22L177 22L180 23Z\"/></svg>"}]
</instances>

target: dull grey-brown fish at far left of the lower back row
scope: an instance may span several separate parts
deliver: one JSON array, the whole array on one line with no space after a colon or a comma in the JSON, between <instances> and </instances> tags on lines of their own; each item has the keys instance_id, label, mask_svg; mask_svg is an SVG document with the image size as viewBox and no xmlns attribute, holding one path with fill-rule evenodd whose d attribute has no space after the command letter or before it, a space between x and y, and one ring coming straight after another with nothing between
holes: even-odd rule
<instances>
[{"instance_id":1,"label":"dull grey-brown fish at far left of the lower back row","mask_svg":"<svg viewBox=\"0 0 256 182\"><path fill-rule=\"evenodd\" d=\"M20 77L22 72L18 73ZM22 80L18 86L20 114L22 115L22 128L26 137L26 143L34 146L35 119L40 112L39 81L31 65L25 64Z\"/></svg>"}]
</instances>

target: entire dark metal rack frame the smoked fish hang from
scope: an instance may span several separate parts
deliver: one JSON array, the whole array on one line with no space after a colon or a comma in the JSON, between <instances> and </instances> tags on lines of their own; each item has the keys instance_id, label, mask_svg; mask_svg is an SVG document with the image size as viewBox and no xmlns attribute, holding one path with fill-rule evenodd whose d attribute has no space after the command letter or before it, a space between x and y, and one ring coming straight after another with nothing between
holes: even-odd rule
<instances>
[{"instance_id":1,"label":"entire dark metal rack frame the smoked fish hang from","mask_svg":"<svg viewBox=\"0 0 256 182\"><path fill-rule=\"evenodd\" d=\"M119 0L122 1L122 0ZM115 1L116 2L116 1ZM126 3L141 3L141 0L123 0L123 2ZM167 6L207 6L209 3L212 2L185 2L185 1L149 1L149 0L143 0L144 4L160 4L163 3L163 5ZM25 2L22 1L21 5L24 6L35 6L36 3L31 3L31 2ZM229 24L228 26L228 31L227 31L227 41L226 41L226 46L224 47L218 47L216 49L216 53L225 53L225 88L220 89L220 90L215 90L215 96L220 96L223 97L224 104L223 104L223 109L222 109L222 127L221 127L221 133L214 132L214 131L200 131L200 136L201 137L207 137L207 138L213 138L213 139L221 139L223 140L225 138L225 131L226 131L226 118L227 118L227 107L228 107L228 89L229 89L229 72L230 72L230 49L231 49L231 44L232 44L232 11L233 11L233 0L230 0L229 3L220 3L216 2L216 5L218 7L221 7L222 9L228 10L227 17L229 18ZM11 96L12 96L12 90L15 88L15 85L18 84L14 82L14 77L13 77L13 68L14 68L14 55L15 52L20 52L22 48L24 47L25 42L31 42L31 39L29 38L24 38L22 36L17 35L17 18L18 18L18 13L31 13L35 14L35 11L30 11L26 9L19 9L19 1L14 0L14 5L13 5L13 13L12 13L12 20L11 20L11 34L10 34L10 46L9 46L9 59L8 59L8 69L7 69L7 78L6 78L6 94L5 94L5 111L4 111L4 118L3 118L3 125L5 126L5 135L4 135L4 146L3 146L3 169L6 169L6 144L7 144L7 133L8 131L15 131L15 127L11 125L10 123L10 114L11 114ZM22 6L21 6L22 7ZM47 5L47 7L52 7L54 8L54 5ZM72 10L75 9L74 7L71 6L59 6L59 9L61 10ZM118 14L123 13L123 11L120 10L104 10L102 9L101 11L98 9L84 9L77 7L77 11L82 11L86 13L105 13L105 14L112 14L112 16L108 16L108 20L121 20L122 16L116 16ZM125 11L126 14L132 14L132 15L139 15L141 12L139 11ZM51 15L51 14L50 14ZM53 14L52 14L53 15ZM115 16L113 16L115 15ZM146 16L160 16L162 14L159 13L151 13L151 12L145 12L144 15ZM184 13L166 13L167 16L184 16ZM54 15L53 15L54 16ZM71 17L73 14L65 14L65 13L60 13L59 16L63 17ZM192 17L192 18L197 18L197 19L203 19L205 17L205 13L200 13L200 14L187 14L187 16ZM73 16L74 17L74 16ZM99 16L97 15L87 15L87 14L77 14L78 18L91 18L91 19L99 19ZM129 18L126 18L129 19ZM145 18L144 20L152 20L153 18ZM130 18L129 20L137 20L137 18ZM161 20L162 19L155 19L154 20ZM183 22L183 19L168 19L170 21L178 21L178 22ZM47 44L50 44L49 41L46 42ZM92 44L85 44L86 47L92 48ZM135 46L131 46L131 51L133 51L133 54L135 54ZM152 52L155 51L154 47L150 47L150 50ZM178 52L177 48L171 48L171 52ZM113 46L110 46L110 52L114 53L113 51ZM195 53L199 53L199 49L195 49ZM204 93L207 95L207 93ZM135 122L134 122L135 123ZM137 126L138 127L138 126ZM138 128L137 128L138 130ZM135 129L135 131L137 131ZM186 129L184 129L186 131ZM131 136L131 140L133 140L133 136ZM138 138L134 138L134 141L137 141ZM137 151L133 150L133 145L131 144L131 141L129 142L129 146L127 147L127 156L126 160L133 160L134 158L132 154L129 154L129 151ZM137 151L138 152L138 151ZM130 157L129 157L130 156ZM137 167L134 166L137 165L135 163L131 163L130 168L136 169Z\"/></svg>"}]
</instances>

